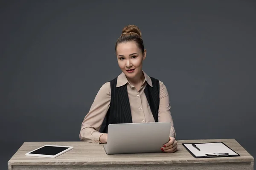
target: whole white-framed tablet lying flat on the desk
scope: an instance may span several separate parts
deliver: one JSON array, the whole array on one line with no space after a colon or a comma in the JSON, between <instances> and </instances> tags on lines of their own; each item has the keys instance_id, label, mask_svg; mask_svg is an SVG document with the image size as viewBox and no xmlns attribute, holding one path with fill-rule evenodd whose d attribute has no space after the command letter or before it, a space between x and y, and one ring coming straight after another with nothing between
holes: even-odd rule
<instances>
[{"instance_id":1,"label":"whole white-framed tablet lying flat on the desk","mask_svg":"<svg viewBox=\"0 0 256 170\"><path fill-rule=\"evenodd\" d=\"M60 145L49 145L46 144L42 147L38 147L35 150L32 150L26 153L26 156L38 156L38 157L47 157L55 158L61 154L73 149L73 146L60 146Z\"/></svg>"}]
</instances>

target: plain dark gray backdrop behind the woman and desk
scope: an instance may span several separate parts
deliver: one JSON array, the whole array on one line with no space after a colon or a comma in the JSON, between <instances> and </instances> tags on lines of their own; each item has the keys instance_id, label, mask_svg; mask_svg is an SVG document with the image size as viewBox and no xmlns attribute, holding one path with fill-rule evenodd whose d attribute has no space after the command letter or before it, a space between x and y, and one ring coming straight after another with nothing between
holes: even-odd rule
<instances>
[{"instance_id":1,"label":"plain dark gray backdrop behind the woman and desk","mask_svg":"<svg viewBox=\"0 0 256 170\"><path fill-rule=\"evenodd\" d=\"M177 139L236 139L256 157L253 0L0 3L1 167L26 141L79 141L114 46L142 31L143 70L169 91Z\"/></svg>"}]
</instances>

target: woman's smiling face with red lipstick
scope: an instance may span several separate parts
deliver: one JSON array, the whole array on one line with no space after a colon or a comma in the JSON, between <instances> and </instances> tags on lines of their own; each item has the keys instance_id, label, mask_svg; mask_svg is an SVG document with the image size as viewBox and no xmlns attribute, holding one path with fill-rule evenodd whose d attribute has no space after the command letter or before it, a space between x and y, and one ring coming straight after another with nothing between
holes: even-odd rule
<instances>
[{"instance_id":1,"label":"woman's smiling face with red lipstick","mask_svg":"<svg viewBox=\"0 0 256 170\"><path fill-rule=\"evenodd\" d=\"M119 43L116 47L118 65L126 77L138 77L142 71L142 62L146 57L134 41Z\"/></svg>"}]
</instances>

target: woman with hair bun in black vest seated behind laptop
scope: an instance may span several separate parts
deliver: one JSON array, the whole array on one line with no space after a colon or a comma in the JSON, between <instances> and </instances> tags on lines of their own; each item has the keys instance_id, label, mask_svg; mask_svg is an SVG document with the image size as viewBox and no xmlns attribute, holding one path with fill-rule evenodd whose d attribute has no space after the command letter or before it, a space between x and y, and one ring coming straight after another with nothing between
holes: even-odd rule
<instances>
[{"instance_id":1,"label":"woman with hair bun in black vest seated behind laptop","mask_svg":"<svg viewBox=\"0 0 256 170\"><path fill-rule=\"evenodd\" d=\"M171 122L169 142L161 150L168 153L177 151L166 86L142 70L146 50L140 29L134 25L123 28L115 50L122 74L100 88L82 122L80 140L107 143L108 125L111 123ZM106 126L100 130L104 119Z\"/></svg>"}]
</instances>

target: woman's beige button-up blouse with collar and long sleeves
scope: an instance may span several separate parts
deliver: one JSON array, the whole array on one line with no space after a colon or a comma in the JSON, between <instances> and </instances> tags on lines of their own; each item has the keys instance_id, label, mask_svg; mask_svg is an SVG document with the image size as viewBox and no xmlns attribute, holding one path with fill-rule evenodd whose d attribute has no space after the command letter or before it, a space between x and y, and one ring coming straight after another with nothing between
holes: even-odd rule
<instances>
[{"instance_id":1,"label":"woman's beige button-up blouse with collar and long sleeves","mask_svg":"<svg viewBox=\"0 0 256 170\"><path fill-rule=\"evenodd\" d=\"M131 116L133 123L143 123L143 122L155 122L154 117L151 113L150 106L148 104L148 100L144 94L145 85L148 82L148 85L152 87L152 82L150 77L144 74L144 82L140 87L140 90L131 85L128 82L125 74L122 72L117 77L116 87L127 84L128 98L131 105ZM166 86L159 80L160 83L160 104L158 110L158 122L171 122L172 127L170 131L170 136L175 137L175 129L173 126L173 120L171 116L171 106L169 102L169 95L166 89ZM92 142L99 144L99 137L104 134L100 133L99 129L102 125L102 122L105 118L106 113L108 112L108 108L110 106L111 101L111 87L110 82L106 82L99 89L93 104L91 105L90 111L84 117L84 121L81 125L81 130L79 134L79 138L81 141Z\"/></svg>"}]
</instances>

